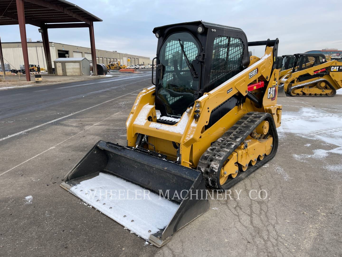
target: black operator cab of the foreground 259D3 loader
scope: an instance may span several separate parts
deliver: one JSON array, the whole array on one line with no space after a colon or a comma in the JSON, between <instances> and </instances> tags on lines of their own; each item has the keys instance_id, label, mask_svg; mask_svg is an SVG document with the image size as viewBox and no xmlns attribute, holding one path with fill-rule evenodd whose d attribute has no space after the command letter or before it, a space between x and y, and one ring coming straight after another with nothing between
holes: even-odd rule
<instances>
[{"instance_id":1,"label":"black operator cab of the foreground 259D3 loader","mask_svg":"<svg viewBox=\"0 0 342 257\"><path fill-rule=\"evenodd\" d=\"M203 93L249 65L247 37L239 28L196 21L156 27L153 33L155 105L162 116L181 117Z\"/></svg>"}]
</instances>

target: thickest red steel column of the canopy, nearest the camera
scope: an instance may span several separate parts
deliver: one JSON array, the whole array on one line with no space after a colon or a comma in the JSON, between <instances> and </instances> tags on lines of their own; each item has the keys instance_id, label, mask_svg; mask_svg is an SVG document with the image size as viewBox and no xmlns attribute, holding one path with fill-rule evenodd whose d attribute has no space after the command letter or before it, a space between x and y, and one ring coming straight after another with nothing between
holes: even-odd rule
<instances>
[{"instance_id":1,"label":"thickest red steel column of the canopy, nearest the camera","mask_svg":"<svg viewBox=\"0 0 342 257\"><path fill-rule=\"evenodd\" d=\"M22 42L22 49L23 49L23 56L24 56L26 81L31 81L30 67L28 63L27 42L26 42L24 0L16 0L16 4L17 4L17 12L18 12L20 38Z\"/></svg>"}]
</instances>

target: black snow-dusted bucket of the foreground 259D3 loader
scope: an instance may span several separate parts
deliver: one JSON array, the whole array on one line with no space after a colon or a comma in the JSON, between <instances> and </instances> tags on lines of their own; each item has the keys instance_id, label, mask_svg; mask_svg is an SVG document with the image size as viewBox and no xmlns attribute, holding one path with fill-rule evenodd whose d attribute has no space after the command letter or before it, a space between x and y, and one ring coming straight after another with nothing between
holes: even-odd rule
<instances>
[{"instance_id":1,"label":"black snow-dusted bucket of the foreground 259D3 loader","mask_svg":"<svg viewBox=\"0 0 342 257\"><path fill-rule=\"evenodd\" d=\"M209 201L200 172L140 151L100 140L61 186L160 247Z\"/></svg>"}]
</instances>

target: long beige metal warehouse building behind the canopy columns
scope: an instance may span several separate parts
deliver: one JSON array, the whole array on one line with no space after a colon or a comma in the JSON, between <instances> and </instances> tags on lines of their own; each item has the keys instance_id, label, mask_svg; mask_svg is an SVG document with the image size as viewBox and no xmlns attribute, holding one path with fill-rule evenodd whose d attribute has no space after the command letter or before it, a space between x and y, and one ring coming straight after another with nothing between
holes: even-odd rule
<instances>
[{"instance_id":1,"label":"long beige metal warehouse building behind the canopy columns","mask_svg":"<svg viewBox=\"0 0 342 257\"><path fill-rule=\"evenodd\" d=\"M54 60L57 58L65 58L66 54L70 58L87 58L92 63L90 47L72 46L49 42L52 67L54 68ZM20 69L20 65L24 64L23 51L21 42L1 42L4 62L11 65L11 69ZM30 64L37 64L40 67L47 68L45 53L42 42L27 42L28 59ZM137 56L128 53L118 53L117 51L107 51L96 49L97 63L108 64L109 62L120 61L121 64L152 64L149 57Z\"/></svg>"}]
</instances>

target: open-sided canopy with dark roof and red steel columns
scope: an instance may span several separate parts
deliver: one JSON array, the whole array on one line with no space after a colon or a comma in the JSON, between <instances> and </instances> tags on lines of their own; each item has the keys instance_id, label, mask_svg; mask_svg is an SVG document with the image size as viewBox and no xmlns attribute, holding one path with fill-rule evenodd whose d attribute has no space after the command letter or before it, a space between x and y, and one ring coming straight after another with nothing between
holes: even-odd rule
<instances>
[{"instance_id":1,"label":"open-sided canopy with dark roof and red steel columns","mask_svg":"<svg viewBox=\"0 0 342 257\"><path fill-rule=\"evenodd\" d=\"M1 0L0 25L19 25L26 80L31 81L25 24L40 27L48 73L52 73L48 28L89 28L93 74L97 75L93 22L102 21L76 4L64 0ZM0 59L4 71L2 48Z\"/></svg>"}]
</instances>

